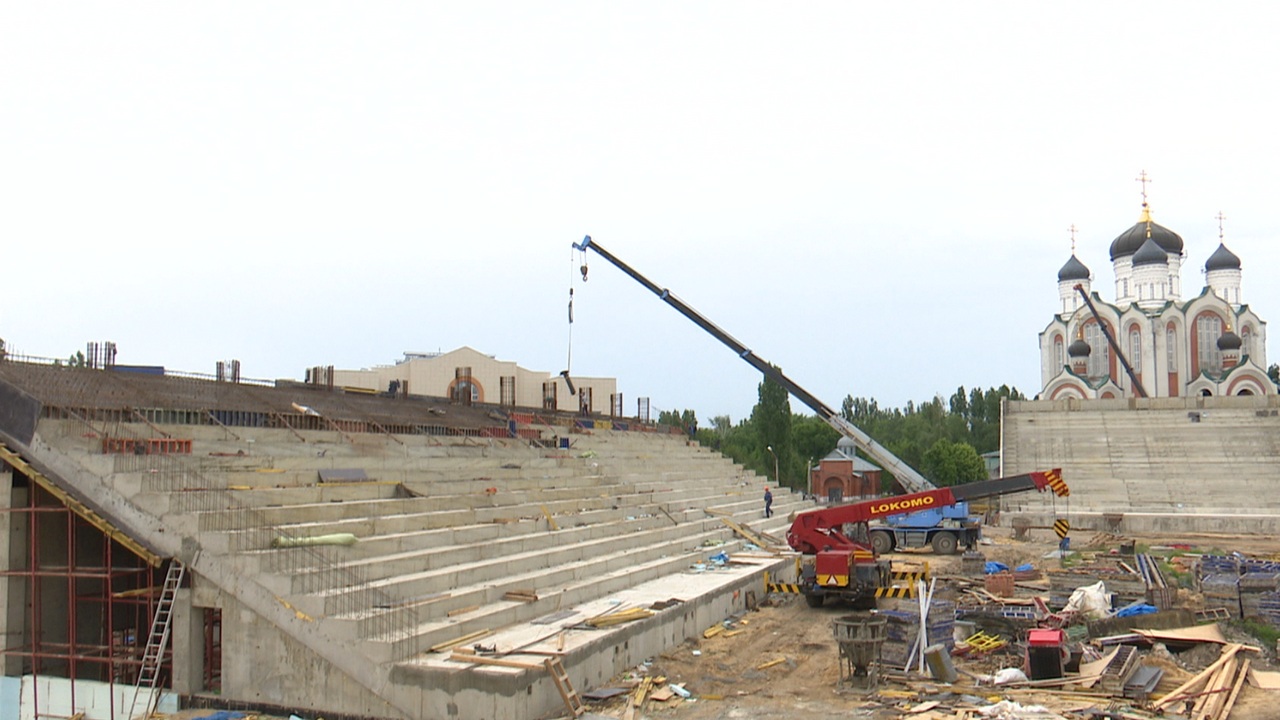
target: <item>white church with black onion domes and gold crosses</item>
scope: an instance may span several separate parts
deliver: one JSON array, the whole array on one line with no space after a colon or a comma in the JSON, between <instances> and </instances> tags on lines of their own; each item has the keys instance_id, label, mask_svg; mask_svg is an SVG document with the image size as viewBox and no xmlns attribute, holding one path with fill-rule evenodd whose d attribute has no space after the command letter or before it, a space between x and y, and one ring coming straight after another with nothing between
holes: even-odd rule
<instances>
[{"instance_id":1,"label":"white church with black onion domes and gold crosses","mask_svg":"<svg viewBox=\"0 0 1280 720\"><path fill-rule=\"evenodd\" d=\"M1183 238L1151 219L1143 196L1138 223L1111 242L1114 302L1093 290L1092 273L1074 249L1059 270L1057 313L1039 333L1039 398L1139 395L1103 327L1148 397L1274 395L1266 323L1243 301L1240 259L1226 249L1221 229L1204 261L1204 288L1184 299Z\"/></svg>"}]
</instances>

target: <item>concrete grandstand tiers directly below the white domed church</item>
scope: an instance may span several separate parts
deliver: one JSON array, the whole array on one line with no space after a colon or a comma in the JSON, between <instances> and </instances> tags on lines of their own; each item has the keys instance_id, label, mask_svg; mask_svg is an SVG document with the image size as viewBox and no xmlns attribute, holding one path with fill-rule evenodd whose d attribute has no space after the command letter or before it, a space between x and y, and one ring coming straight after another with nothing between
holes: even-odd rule
<instances>
[{"instance_id":1,"label":"concrete grandstand tiers directly below the white domed church","mask_svg":"<svg viewBox=\"0 0 1280 720\"><path fill-rule=\"evenodd\" d=\"M1011 401L1004 474L1062 468L1066 501L1002 500L1006 515L1116 533L1280 532L1280 397Z\"/></svg>"}]
</instances>

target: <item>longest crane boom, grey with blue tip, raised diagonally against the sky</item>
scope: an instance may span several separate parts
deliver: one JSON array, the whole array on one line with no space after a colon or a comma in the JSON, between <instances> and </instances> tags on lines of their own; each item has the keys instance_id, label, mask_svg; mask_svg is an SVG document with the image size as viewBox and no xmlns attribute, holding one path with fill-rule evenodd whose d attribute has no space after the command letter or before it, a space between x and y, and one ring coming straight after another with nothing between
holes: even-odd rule
<instances>
[{"instance_id":1,"label":"longest crane boom, grey with blue tip, raised diagonally against the sky","mask_svg":"<svg viewBox=\"0 0 1280 720\"><path fill-rule=\"evenodd\" d=\"M600 243L593 241L591 236L584 237L582 242L580 243L575 242L573 247L581 251L594 250L600 258L604 258L605 260L612 263L617 269L631 275L631 279L649 288L650 292L662 299L662 301L666 302L667 305L675 307L681 315L689 318L695 325L703 328L704 331L710 333L712 337L727 345L728 348L732 350L735 354L737 354L737 356L741 357L744 361L746 361L748 365L755 368L756 370L763 373L764 377L769 378L771 380L786 388L787 392L795 396L795 398L799 400L800 402L808 405L810 410L817 413L818 416L826 420L826 423L832 428L835 428L836 432L854 441L854 443L858 446L859 450L861 450L872 460L878 462L881 468L892 473L893 477L897 478L897 482L902 486L902 488L906 489L906 492L924 492L934 489L937 487L928 479L925 479L924 475L916 473L914 468L911 468L906 462L902 462L901 460L899 460L896 455L893 455L892 452L886 450L882 445L872 439L870 436L858 429L856 425L841 418L840 414L828 407L827 404L814 397L813 393L796 384L795 380L792 380L791 378L786 377L782 373L782 370L771 365L768 361L758 356L755 352L751 352L750 348L748 348L745 345L733 338L733 336L722 331L716 323L708 320L698 310L694 310L687 304L685 304L685 301L676 297L676 295L672 293L669 290L658 287L649 278L641 275L639 272L631 268L631 265L627 265L617 256L614 256L612 252L609 252L604 247L600 247Z\"/></svg>"}]
</instances>

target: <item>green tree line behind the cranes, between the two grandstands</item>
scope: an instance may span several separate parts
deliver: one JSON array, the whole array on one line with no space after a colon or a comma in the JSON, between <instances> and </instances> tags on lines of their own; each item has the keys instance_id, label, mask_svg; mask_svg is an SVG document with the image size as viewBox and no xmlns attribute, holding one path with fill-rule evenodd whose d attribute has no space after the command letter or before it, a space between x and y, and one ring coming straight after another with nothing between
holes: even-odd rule
<instances>
[{"instance_id":1,"label":"green tree line behind the cranes, between the two grandstands","mask_svg":"<svg viewBox=\"0 0 1280 720\"><path fill-rule=\"evenodd\" d=\"M710 427L701 427L692 410L662 411L658 423L682 428L699 443L777 484L806 491L809 468L835 450L842 436L817 415L792 413L790 396L778 383L765 378L756 389L751 415L737 423L717 415ZM1027 400L1009 386L961 386L947 398L937 395L923 402L908 401L905 407L881 407L876 398L845 396L840 414L942 487L987 477L982 454L1000 448L1000 407L1006 398ZM888 470L882 482L882 489L892 492Z\"/></svg>"}]
</instances>

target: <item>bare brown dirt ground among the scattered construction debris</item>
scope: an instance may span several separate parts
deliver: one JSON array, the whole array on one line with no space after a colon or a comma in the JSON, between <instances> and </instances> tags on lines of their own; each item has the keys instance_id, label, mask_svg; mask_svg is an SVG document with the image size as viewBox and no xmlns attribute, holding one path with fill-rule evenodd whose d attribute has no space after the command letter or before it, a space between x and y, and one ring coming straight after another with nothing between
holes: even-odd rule
<instances>
[{"instance_id":1,"label":"bare brown dirt ground among the scattered construction debris","mask_svg":"<svg viewBox=\"0 0 1280 720\"><path fill-rule=\"evenodd\" d=\"M1057 560L1046 560L1043 555L1057 547L1057 538L1051 533L1033 536L1030 542L1015 542L1007 529L991 528L988 537L993 544L982 547L987 560L998 560L1018 566L1033 562L1047 569ZM1079 542L1089 538L1076 538ZM1139 547L1187 544L1193 551L1202 552L1234 550L1247 555L1272 556L1280 552L1280 541L1270 538L1236 538L1197 536L1185 538L1133 538ZM1101 548L1107 552L1107 548ZM895 559L931 562L931 570L941 578L960 574L960 557L936 557L928 553L893 555ZM940 580L940 588L943 587ZM1047 585L1046 585L1047 587ZM946 597L951 591L940 589L938 597ZM1018 594L1029 597L1034 591L1020 589ZM1190 605L1198 598L1188 592L1183 597ZM998 687L975 685L975 675L992 674L1001 667L1016 667L1021 656L1010 650L1007 653L992 653L978 661L956 659L955 665L963 673L954 685L940 684L928 679L906 680L884 679L879 692L864 694L841 689L837 646L832 632L832 620L846 615L850 607L827 606L810 609L799 596L772 594L767 606L732 623L731 629L709 639L699 638L652 659L650 664L637 667L627 675L614 678L617 687L626 687L648 674L650 678L666 678L666 683L654 688L666 688L668 683L682 684L691 698L673 697L666 701L650 698L635 717L680 720L721 720L721 719L769 719L795 717L796 712L812 716L865 717L882 720L890 717L913 717L916 720L938 720L952 717L977 717L977 714L964 715L964 710L998 702L1016 701L1023 706L1043 705L1053 711L1051 715L1028 715L1015 712L1010 717L1089 717L1089 708L1100 711L1124 711L1134 717L1148 717L1140 706L1128 701L1112 702L1105 697L1091 697L1083 692L1070 694L1061 688L1059 692L1046 689L1002 689ZM1242 634L1229 625L1222 625L1224 634L1231 642L1260 644L1251 635ZM1275 648L1263 648L1261 655L1253 655L1257 669L1276 669ZM1172 655L1162 648L1143 651L1143 662L1165 669L1165 679L1157 693L1167 692L1194 673L1208 666L1219 656L1219 646L1208 646ZM662 693L666 694L666 693ZM660 697L660 696L659 696ZM604 702L589 703L588 710L599 715L623 717L627 700L616 697ZM929 702L938 705L932 710L910 712L913 708L927 708ZM1233 708L1233 720L1271 720L1280 717L1276 710L1280 692L1267 692L1245 685ZM1169 716L1174 716L1171 712Z\"/></svg>"}]
</instances>

